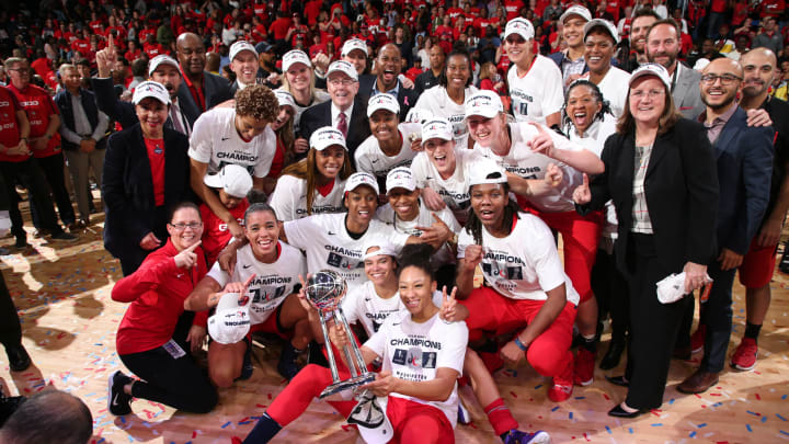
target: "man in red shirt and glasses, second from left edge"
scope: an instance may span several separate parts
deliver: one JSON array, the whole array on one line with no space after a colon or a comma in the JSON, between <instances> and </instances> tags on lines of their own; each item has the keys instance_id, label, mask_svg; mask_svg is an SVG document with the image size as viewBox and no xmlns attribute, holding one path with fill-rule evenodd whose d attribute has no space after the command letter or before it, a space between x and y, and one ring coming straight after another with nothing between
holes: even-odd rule
<instances>
[{"instance_id":1,"label":"man in red shirt and glasses, second from left edge","mask_svg":"<svg viewBox=\"0 0 789 444\"><path fill-rule=\"evenodd\" d=\"M64 164L66 163L60 148L60 133L58 132L60 128L60 112L55 105L55 101L44 89L30 84L31 69L27 60L10 58L5 60L5 66L9 69L9 78L11 79L9 91L16 96L20 105L27 113L31 125L28 147L33 151L33 157L36 158L38 167L44 172L44 177L49 182L49 189L60 213L60 219L66 226L73 226L76 218L68 191L66 191L64 178ZM42 224L37 206L35 201L31 198L33 225L41 232L46 227Z\"/></svg>"}]
</instances>

